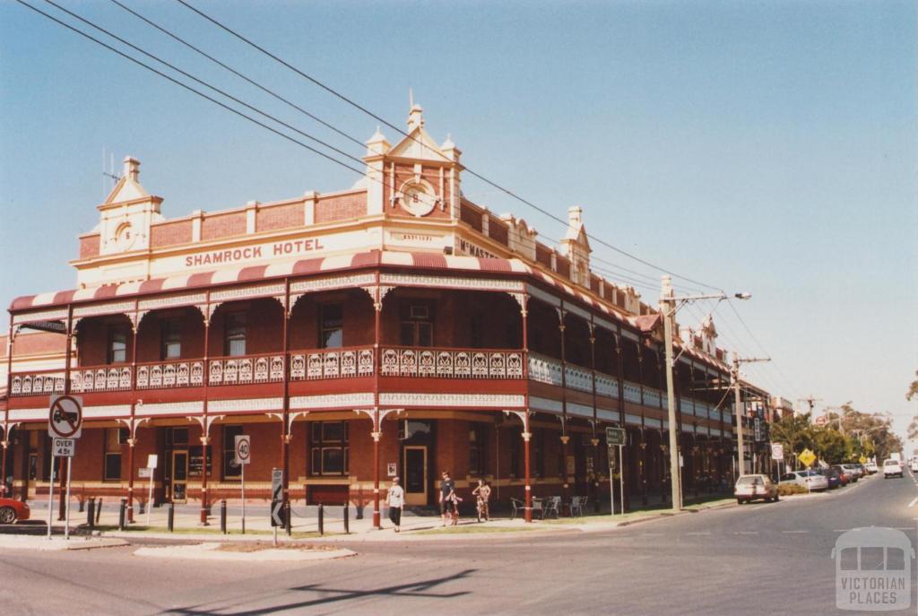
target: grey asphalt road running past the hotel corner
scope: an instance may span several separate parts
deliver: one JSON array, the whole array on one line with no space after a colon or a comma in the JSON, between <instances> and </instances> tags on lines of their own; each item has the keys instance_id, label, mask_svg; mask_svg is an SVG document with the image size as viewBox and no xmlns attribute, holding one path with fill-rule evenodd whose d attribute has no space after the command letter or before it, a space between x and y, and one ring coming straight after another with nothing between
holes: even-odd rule
<instances>
[{"instance_id":1,"label":"grey asphalt road running past the hotel corner","mask_svg":"<svg viewBox=\"0 0 918 616\"><path fill-rule=\"evenodd\" d=\"M911 476L875 476L614 531L356 543L359 556L296 566L7 551L0 613L828 614L840 532L888 526L914 542L915 498Z\"/></svg>"}]
</instances>

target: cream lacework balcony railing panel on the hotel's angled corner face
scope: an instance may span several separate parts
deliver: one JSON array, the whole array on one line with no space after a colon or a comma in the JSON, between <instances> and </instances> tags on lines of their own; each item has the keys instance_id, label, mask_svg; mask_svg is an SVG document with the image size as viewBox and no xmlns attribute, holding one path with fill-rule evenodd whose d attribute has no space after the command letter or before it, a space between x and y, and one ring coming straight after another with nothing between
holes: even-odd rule
<instances>
[{"instance_id":1,"label":"cream lacework balcony railing panel on the hotel's angled corner face","mask_svg":"<svg viewBox=\"0 0 918 616\"><path fill-rule=\"evenodd\" d=\"M380 375L428 378L522 378L521 351L386 347Z\"/></svg>"}]
</instances>

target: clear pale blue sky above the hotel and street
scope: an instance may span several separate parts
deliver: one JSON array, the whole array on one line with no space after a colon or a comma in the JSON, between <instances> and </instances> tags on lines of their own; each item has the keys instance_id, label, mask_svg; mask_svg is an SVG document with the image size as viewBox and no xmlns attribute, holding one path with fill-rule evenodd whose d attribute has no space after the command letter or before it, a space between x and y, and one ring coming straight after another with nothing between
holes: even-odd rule
<instances>
[{"instance_id":1,"label":"clear pale blue sky above the hotel and street","mask_svg":"<svg viewBox=\"0 0 918 616\"><path fill-rule=\"evenodd\" d=\"M61 4L362 153L118 6ZM185 7L128 4L358 139L373 134L376 120ZM755 340L730 308L715 318L723 346L774 358L748 370L761 386L889 411L902 432L916 412L904 399L918 368L914 3L193 4L398 126L412 87L427 129L452 134L477 173L562 217L584 207L590 232L652 263L751 291L736 308ZM103 148L140 158L168 217L356 179L13 2L0 4L0 75L4 306L73 286L66 262L97 219ZM467 175L464 190L547 238L563 232ZM594 248L641 272L655 302L659 272Z\"/></svg>"}]
</instances>

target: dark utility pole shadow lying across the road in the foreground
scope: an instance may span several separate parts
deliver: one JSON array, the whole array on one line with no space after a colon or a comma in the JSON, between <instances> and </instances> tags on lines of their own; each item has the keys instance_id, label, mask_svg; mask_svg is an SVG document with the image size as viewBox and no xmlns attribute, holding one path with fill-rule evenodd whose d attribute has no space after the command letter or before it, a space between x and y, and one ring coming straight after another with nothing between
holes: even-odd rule
<instances>
[{"instance_id":1,"label":"dark utility pole shadow lying across the road in the foreground","mask_svg":"<svg viewBox=\"0 0 918 616\"><path fill-rule=\"evenodd\" d=\"M273 614L285 610L301 610L318 605L327 605L340 601L349 601L352 599L364 599L367 597L420 597L424 599L455 599L470 594L467 590L455 592L436 592L435 588L457 579L468 577L475 573L477 569L465 569L451 576L435 577L418 582L398 584L396 586L387 586L384 588L373 588L367 590L357 590L348 588L328 588L321 584L308 584L306 586L297 586L288 588L288 591L300 591L304 593L321 593L322 597L317 599L303 599L291 601L288 603L274 605L270 607L258 608L255 610L243 610L232 612L238 616L260 616L261 614ZM223 611L224 609L219 609ZM174 608L161 612L163 614L185 614L186 616L207 616L216 613L199 606L189 606L187 608Z\"/></svg>"}]
</instances>

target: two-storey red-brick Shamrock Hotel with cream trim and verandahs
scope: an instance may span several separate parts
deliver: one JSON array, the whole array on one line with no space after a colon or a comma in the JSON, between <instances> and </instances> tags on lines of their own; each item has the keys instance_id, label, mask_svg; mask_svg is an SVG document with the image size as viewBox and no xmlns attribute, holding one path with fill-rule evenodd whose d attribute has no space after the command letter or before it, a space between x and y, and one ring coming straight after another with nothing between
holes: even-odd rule
<instances>
[{"instance_id":1,"label":"two-storey red-brick Shamrock Hotel with cream trim and verandahs","mask_svg":"<svg viewBox=\"0 0 918 616\"><path fill-rule=\"evenodd\" d=\"M80 237L76 288L10 307L0 459L14 495L47 493L49 399L64 391L84 404L75 494L133 505L158 454L155 499L199 500L202 516L239 496L243 433L247 495L266 498L281 467L294 502L365 506L397 472L410 505L432 505L445 469L461 491L487 477L501 502L595 502L613 424L628 431L630 498L666 494L671 429L687 493L732 476L713 326L677 341L671 427L659 314L591 272L579 207L553 249L472 203L460 151L431 139L419 106L409 137L392 146L377 131L365 162L340 192L164 218L126 159ZM30 336L56 337L59 363L20 357Z\"/></svg>"}]
</instances>

